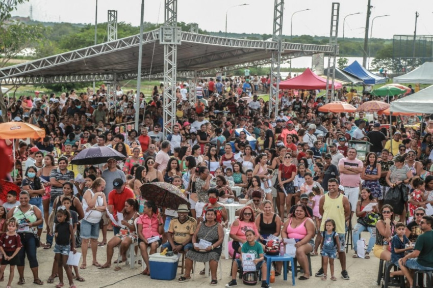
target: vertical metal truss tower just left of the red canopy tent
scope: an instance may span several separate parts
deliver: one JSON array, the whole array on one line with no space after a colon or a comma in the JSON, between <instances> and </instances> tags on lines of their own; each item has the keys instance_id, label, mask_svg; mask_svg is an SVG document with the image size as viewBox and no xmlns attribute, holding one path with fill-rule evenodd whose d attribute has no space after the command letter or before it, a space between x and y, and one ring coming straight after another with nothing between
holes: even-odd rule
<instances>
[{"instance_id":1,"label":"vertical metal truss tower just left of the red canopy tent","mask_svg":"<svg viewBox=\"0 0 433 288\"><path fill-rule=\"evenodd\" d=\"M281 64L281 52L283 49L283 11L284 0L274 0L274 18L272 28L272 41L276 42L276 49L272 51L271 56L271 86L269 89L269 116L272 110L275 115L278 114L278 92L279 92L279 66Z\"/></svg>"}]
</instances>

